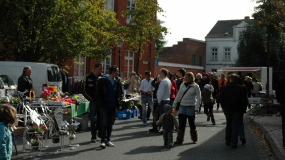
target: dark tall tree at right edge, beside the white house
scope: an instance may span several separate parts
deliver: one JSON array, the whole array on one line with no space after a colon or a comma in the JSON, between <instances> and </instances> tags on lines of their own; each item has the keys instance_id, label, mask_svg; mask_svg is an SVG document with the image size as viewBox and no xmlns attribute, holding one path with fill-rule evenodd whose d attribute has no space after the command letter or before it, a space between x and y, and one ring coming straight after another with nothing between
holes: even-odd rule
<instances>
[{"instance_id":1,"label":"dark tall tree at right edge, beside the white house","mask_svg":"<svg viewBox=\"0 0 285 160\"><path fill-rule=\"evenodd\" d=\"M257 0L254 23L243 31L236 66L273 67L273 89L285 76L284 0ZM268 56L268 57L267 57ZM268 61L267 61L268 60Z\"/></svg>"}]
</instances>

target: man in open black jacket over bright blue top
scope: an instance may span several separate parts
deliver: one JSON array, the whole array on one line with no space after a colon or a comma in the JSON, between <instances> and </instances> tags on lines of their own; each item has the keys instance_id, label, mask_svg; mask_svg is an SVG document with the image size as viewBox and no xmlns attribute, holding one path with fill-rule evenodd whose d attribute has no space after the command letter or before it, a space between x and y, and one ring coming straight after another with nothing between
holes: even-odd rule
<instances>
[{"instance_id":1,"label":"man in open black jacket over bright blue top","mask_svg":"<svg viewBox=\"0 0 285 160\"><path fill-rule=\"evenodd\" d=\"M101 148L115 146L111 142L110 137L116 119L116 109L120 106L120 99L123 97L121 78L118 75L118 67L111 66L109 68L109 75L103 76L96 87L96 102L101 107Z\"/></svg>"}]
</instances>

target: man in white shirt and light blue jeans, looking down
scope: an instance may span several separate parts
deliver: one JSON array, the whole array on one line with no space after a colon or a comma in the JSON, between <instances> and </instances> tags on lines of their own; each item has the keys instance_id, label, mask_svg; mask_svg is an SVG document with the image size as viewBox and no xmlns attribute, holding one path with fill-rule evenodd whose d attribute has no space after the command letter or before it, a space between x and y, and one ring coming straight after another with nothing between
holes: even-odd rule
<instances>
[{"instance_id":1,"label":"man in white shirt and light blue jeans, looking down","mask_svg":"<svg viewBox=\"0 0 285 160\"><path fill-rule=\"evenodd\" d=\"M151 72L148 70L145 71L145 76L146 78L140 83L140 92L142 95L142 126L147 126L147 104L148 107L150 107L152 114L154 110L154 101L152 98L154 87L151 85L151 82L154 79L151 78Z\"/></svg>"}]
</instances>

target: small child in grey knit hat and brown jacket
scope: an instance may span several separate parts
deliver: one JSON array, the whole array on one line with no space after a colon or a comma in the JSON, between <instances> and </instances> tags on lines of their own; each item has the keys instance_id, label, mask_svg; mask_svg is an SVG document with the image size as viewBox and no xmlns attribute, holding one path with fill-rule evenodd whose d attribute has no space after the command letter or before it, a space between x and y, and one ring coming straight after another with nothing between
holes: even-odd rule
<instances>
[{"instance_id":1,"label":"small child in grey knit hat and brown jacket","mask_svg":"<svg viewBox=\"0 0 285 160\"><path fill-rule=\"evenodd\" d=\"M175 126L177 130L179 129L179 126L175 116L171 113L172 112L171 105L164 105L163 109L165 113L159 117L159 120L156 122L156 125L160 126L162 124L164 145L168 146L168 148L172 148L173 147L172 133L174 131L173 126Z\"/></svg>"}]
</instances>

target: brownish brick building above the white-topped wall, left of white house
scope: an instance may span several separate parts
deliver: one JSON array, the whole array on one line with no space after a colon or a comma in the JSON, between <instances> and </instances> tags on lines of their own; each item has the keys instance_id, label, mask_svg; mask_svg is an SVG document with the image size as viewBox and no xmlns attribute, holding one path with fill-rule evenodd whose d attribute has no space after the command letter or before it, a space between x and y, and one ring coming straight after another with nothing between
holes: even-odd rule
<instances>
[{"instance_id":1,"label":"brownish brick building above the white-topped wall, left of white house","mask_svg":"<svg viewBox=\"0 0 285 160\"><path fill-rule=\"evenodd\" d=\"M183 38L182 42L166 47L159 57L161 62L192 65L192 55L195 55L195 65L199 65L199 56L202 56L202 66L206 63L206 42Z\"/></svg>"}]
</instances>

